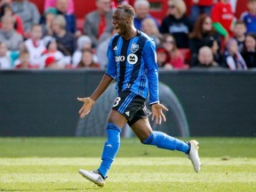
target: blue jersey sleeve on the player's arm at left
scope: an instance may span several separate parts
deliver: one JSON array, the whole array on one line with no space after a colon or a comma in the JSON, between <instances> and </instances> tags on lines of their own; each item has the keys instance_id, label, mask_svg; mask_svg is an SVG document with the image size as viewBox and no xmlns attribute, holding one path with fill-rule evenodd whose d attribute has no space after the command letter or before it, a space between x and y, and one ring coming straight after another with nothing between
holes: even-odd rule
<instances>
[{"instance_id":1,"label":"blue jersey sleeve on the player's arm at left","mask_svg":"<svg viewBox=\"0 0 256 192\"><path fill-rule=\"evenodd\" d=\"M108 51L107 51L108 65L107 65L106 74L111 78L115 79L116 78L116 59L115 59L114 50L112 48L112 41L113 41L113 38L110 40L108 44Z\"/></svg>"}]
</instances>

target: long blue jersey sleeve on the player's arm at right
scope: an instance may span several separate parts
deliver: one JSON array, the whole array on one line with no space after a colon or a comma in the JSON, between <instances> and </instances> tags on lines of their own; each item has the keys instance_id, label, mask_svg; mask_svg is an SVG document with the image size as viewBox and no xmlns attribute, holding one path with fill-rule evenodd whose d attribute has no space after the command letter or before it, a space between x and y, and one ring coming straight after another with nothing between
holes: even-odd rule
<instances>
[{"instance_id":1,"label":"long blue jersey sleeve on the player's arm at right","mask_svg":"<svg viewBox=\"0 0 256 192\"><path fill-rule=\"evenodd\" d=\"M143 50L143 59L148 70L149 105L159 102L158 67L156 63L156 44L148 40Z\"/></svg>"}]
</instances>

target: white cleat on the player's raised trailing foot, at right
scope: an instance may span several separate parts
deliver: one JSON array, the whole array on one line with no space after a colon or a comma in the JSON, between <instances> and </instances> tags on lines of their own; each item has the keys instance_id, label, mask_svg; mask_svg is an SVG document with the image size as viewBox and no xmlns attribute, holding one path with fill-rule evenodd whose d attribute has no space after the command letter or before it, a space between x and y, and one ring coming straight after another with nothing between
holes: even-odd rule
<instances>
[{"instance_id":1,"label":"white cleat on the player's raised trailing foot, at right","mask_svg":"<svg viewBox=\"0 0 256 192\"><path fill-rule=\"evenodd\" d=\"M193 164L194 170L195 172L199 172L200 171L200 158L198 156L198 142L196 140L190 140L189 141L189 145L190 145L190 150L187 154L188 159L190 159L190 161Z\"/></svg>"}]
</instances>

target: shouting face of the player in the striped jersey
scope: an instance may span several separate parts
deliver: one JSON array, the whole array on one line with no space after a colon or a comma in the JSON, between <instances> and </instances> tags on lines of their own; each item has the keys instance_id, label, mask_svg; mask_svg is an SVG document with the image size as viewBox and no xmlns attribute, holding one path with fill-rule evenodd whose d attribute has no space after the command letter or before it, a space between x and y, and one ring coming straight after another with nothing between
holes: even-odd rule
<instances>
[{"instance_id":1,"label":"shouting face of the player in the striped jersey","mask_svg":"<svg viewBox=\"0 0 256 192\"><path fill-rule=\"evenodd\" d=\"M129 27L127 22L127 16L121 10L116 10L113 15L113 27L116 29L116 33L124 35Z\"/></svg>"}]
</instances>

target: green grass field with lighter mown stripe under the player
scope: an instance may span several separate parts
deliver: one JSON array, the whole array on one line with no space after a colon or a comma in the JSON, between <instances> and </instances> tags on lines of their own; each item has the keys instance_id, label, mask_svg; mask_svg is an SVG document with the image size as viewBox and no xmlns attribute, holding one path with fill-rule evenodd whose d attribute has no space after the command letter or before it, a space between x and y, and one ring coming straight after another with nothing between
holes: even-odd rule
<instances>
[{"instance_id":1,"label":"green grass field with lighter mown stripe under the player","mask_svg":"<svg viewBox=\"0 0 256 192\"><path fill-rule=\"evenodd\" d=\"M255 138L196 138L198 174L179 152L122 139L104 188L78 174L100 164L101 138L0 138L0 191L256 191Z\"/></svg>"}]
</instances>

